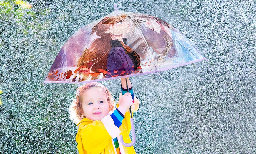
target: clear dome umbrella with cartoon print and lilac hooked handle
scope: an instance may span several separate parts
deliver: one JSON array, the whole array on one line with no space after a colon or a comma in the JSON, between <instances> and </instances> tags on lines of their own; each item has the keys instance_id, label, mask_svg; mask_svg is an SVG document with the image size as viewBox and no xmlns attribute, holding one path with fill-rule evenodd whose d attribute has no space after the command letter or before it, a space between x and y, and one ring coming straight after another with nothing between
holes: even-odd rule
<instances>
[{"instance_id":1,"label":"clear dome umbrella with cartoon print and lilac hooked handle","mask_svg":"<svg viewBox=\"0 0 256 154\"><path fill-rule=\"evenodd\" d=\"M89 83L164 71L205 58L178 30L154 16L115 11L79 29L44 82ZM128 88L127 88L128 90ZM131 109L130 109L131 111ZM132 143L135 143L131 113Z\"/></svg>"}]
</instances>

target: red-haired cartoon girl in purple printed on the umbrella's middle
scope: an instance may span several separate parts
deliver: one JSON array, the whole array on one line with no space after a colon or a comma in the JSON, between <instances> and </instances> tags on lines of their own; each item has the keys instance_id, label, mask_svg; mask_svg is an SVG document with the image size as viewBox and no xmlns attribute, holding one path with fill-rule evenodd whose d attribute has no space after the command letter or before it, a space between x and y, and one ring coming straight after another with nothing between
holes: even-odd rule
<instances>
[{"instance_id":1,"label":"red-haired cartoon girl in purple printed on the umbrella's middle","mask_svg":"<svg viewBox=\"0 0 256 154\"><path fill-rule=\"evenodd\" d=\"M128 75L139 71L140 56L129 46L122 35L131 31L129 16L105 17L92 28L99 38L92 41L77 63L79 81Z\"/></svg>"}]
</instances>

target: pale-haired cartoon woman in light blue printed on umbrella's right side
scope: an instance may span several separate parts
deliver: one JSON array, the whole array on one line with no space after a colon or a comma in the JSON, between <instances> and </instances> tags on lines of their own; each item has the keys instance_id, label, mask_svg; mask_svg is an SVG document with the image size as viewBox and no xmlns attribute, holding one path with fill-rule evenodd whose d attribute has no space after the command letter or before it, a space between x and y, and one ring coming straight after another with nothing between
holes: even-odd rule
<instances>
[{"instance_id":1,"label":"pale-haired cartoon woman in light blue printed on umbrella's right side","mask_svg":"<svg viewBox=\"0 0 256 154\"><path fill-rule=\"evenodd\" d=\"M190 62L202 58L197 48L167 22L145 14L135 14L134 19L148 28L142 33L145 33L145 39L158 53L159 61L164 62L165 57L175 57L177 62ZM152 36L157 39L150 39Z\"/></svg>"}]
</instances>

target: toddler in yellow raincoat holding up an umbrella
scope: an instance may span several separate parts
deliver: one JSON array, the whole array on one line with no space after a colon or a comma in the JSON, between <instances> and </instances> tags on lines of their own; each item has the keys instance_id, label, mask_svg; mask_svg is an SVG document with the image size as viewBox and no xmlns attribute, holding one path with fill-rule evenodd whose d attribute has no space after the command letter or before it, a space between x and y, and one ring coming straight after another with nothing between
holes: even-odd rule
<instances>
[{"instance_id":1,"label":"toddler in yellow raincoat holding up an umbrella","mask_svg":"<svg viewBox=\"0 0 256 154\"><path fill-rule=\"evenodd\" d=\"M135 153L133 146L125 147L119 139L119 135L123 135L124 142L131 143L129 107L132 111L139 108L139 100L133 95L129 78L127 83L129 93L126 93L125 78L121 78L121 94L116 109L111 93L102 84L93 82L77 88L70 114L77 123L79 154Z\"/></svg>"}]
</instances>

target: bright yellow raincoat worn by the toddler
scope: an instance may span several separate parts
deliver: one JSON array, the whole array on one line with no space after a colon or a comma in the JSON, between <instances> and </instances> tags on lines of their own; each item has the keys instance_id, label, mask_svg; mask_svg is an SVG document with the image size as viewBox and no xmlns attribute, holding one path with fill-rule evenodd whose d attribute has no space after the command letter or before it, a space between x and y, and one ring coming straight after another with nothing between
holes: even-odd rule
<instances>
[{"instance_id":1,"label":"bright yellow raincoat worn by the toddler","mask_svg":"<svg viewBox=\"0 0 256 154\"><path fill-rule=\"evenodd\" d=\"M120 94L120 98L122 94ZM117 104L117 107L119 104ZM139 100L134 97L134 106L133 111L139 109ZM133 112L132 112L133 114ZM122 125L119 127L121 133L119 135L123 135L123 140L125 143L131 143L131 139L129 137L129 133L131 130L130 123L130 113L129 110L125 113L124 119L122 121ZM107 132L101 121L92 121L87 118L81 120L78 124L78 131L76 136L77 148L79 154L115 154L116 150L114 147L114 142L112 137ZM119 146L122 146L124 149L124 153L126 154L135 154L134 147L125 147L119 143ZM120 147L121 149L121 147ZM122 152L121 152L122 153Z\"/></svg>"}]
</instances>

